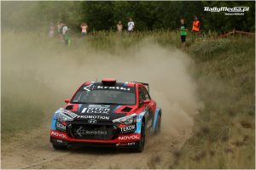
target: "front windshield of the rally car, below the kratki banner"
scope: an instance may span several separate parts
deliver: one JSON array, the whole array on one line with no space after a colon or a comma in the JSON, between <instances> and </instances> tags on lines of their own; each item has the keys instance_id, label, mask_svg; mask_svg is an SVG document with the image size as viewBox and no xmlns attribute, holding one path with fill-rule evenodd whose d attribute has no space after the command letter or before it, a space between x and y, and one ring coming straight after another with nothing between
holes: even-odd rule
<instances>
[{"instance_id":1,"label":"front windshield of the rally car, below the kratki banner","mask_svg":"<svg viewBox=\"0 0 256 170\"><path fill-rule=\"evenodd\" d=\"M79 90L71 103L106 104L106 105L135 105L136 95L133 92L116 89Z\"/></svg>"}]
</instances>

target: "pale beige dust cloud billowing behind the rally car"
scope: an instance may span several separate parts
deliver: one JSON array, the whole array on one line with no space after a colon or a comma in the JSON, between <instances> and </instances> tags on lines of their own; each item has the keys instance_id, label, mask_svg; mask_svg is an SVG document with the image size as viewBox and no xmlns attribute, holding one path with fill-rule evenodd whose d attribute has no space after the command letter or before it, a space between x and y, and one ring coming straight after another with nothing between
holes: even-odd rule
<instances>
[{"instance_id":1,"label":"pale beige dust cloud billowing behind the rally car","mask_svg":"<svg viewBox=\"0 0 256 170\"><path fill-rule=\"evenodd\" d=\"M32 42L14 46L15 43L8 39L3 45L3 84L8 84L3 90L10 95L19 91L20 95L29 96L31 102L41 103L44 99L45 112L49 112L46 116L50 116L55 107L61 107L64 99L71 98L80 84L100 81L103 77L113 77L120 82L148 82L151 97L162 109L162 132L166 134L186 133L201 107L196 83L191 77L193 61L176 48L162 48L145 40L113 54L89 47L75 50L38 46ZM45 110L45 106L40 109Z\"/></svg>"}]
</instances>

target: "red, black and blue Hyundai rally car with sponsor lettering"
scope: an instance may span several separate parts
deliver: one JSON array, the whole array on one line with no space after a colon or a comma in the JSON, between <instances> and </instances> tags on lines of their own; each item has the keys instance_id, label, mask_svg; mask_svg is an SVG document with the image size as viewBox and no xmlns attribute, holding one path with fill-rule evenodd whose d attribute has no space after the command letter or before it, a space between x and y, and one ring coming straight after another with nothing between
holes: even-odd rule
<instances>
[{"instance_id":1,"label":"red, black and blue Hyundai rally car with sponsor lettering","mask_svg":"<svg viewBox=\"0 0 256 170\"><path fill-rule=\"evenodd\" d=\"M84 144L129 147L142 152L145 137L160 133L161 110L148 88L148 83L109 78L83 83L52 117L53 148Z\"/></svg>"}]
</instances>

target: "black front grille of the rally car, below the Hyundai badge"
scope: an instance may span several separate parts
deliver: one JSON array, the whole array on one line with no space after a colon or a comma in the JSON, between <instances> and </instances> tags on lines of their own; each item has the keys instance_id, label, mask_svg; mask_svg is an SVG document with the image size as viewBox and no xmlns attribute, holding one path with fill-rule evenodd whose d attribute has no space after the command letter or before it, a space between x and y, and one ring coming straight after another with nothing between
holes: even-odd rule
<instances>
[{"instance_id":1,"label":"black front grille of the rally car, below the Hyundai badge","mask_svg":"<svg viewBox=\"0 0 256 170\"><path fill-rule=\"evenodd\" d=\"M70 133L75 139L113 139L117 128L113 125L72 124Z\"/></svg>"}]
</instances>

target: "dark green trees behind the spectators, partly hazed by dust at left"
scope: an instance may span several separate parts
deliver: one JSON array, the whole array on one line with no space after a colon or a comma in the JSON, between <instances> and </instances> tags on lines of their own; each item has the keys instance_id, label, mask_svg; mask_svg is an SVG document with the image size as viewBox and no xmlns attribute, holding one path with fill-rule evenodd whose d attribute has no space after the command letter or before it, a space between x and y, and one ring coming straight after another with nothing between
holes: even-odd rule
<instances>
[{"instance_id":1,"label":"dark green trees behind the spectators, partly hazed by dust at left","mask_svg":"<svg viewBox=\"0 0 256 170\"><path fill-rule=\"evenodd\" d=\"M49 23L65 22L79 31L81 22L90 31L115 30L121 20L126 29L131 17L138 31L153 29L177 30L180 18L189 28L195 16L201 20L202 31L242 31L255 29L255 2L197 1L197 2L148 2L148 1L83 1L83 2L1 2L3 28L24 30L46 28ZM224 12L204 12L204 7L250 7L245 15L225 15Z\"/></svg>"}]
</instances>

